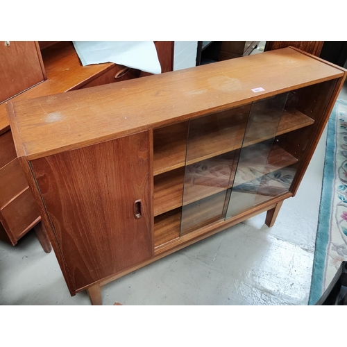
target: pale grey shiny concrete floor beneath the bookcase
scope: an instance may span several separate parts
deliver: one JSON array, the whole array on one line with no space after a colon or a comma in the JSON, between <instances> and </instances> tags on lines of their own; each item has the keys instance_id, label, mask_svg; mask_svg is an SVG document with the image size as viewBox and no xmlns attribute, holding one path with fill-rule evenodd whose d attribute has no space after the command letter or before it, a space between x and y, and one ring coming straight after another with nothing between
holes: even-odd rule
<instances>
[{"instance_id":1,"label":"pale grey shiny concrete floor beneath the bookcase","mask_svg":"<svg viewBox=\"0 0 347 347\"><path fill-rule=\"evenodd\" d=\"M341 91L347 99L347 83ZM129 273L102 288L103 305L307 305L326 131L294 198L272 228L265 214ZM71 297L53 251L34 232L0 242L1 305L90 305Z\"/></svg>"}]
</instances>

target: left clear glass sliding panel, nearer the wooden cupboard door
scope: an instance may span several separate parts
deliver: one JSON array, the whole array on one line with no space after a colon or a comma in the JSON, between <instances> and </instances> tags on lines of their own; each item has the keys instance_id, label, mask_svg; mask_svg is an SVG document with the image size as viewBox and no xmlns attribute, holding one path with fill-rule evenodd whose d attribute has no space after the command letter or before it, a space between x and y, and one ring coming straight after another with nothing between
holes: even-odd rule
<instances>
[{"instance_id":1,"label":"left clear glass sliding panel, nearer the wooden cupboard door","mask_svg":"<svg viewBox=\"0 0 347 347\"><path fill-rule=\"evenodd\" d=\"M225 219L250 110L189 120L180 235Z\"/></svg>"}]
</instances>

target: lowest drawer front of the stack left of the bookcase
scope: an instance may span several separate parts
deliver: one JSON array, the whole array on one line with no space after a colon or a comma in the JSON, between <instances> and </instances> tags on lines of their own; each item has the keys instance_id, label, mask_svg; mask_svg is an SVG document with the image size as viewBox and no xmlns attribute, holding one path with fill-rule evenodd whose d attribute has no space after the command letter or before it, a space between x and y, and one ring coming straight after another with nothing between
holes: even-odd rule
<instances>
[{"instance_id":1,"label":"lowest drawer front of the stack left of the bookcase","mask_svg":"<svg viewBox=\"0 0 347 347\"><path fill-rule=\"evenodd\" d=\"M1 214L16 239L19 239L28 226L40 217L33 194L31 194L29 188L2 208Z\"/></svg>"}]
</instances>

